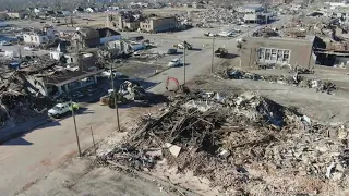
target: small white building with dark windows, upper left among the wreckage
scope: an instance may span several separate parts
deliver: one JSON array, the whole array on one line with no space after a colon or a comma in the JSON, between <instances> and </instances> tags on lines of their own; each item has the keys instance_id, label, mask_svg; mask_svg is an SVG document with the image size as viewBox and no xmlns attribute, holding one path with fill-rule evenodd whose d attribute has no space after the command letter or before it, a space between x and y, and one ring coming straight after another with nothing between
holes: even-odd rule
<instances>
[{"instance_id":1,"label":"small white building with dark windows, upper left among the wreckage","mask_svg":"<svg viewBox=\"0 0 349 196\"><path fill-rule=\"evenodd\" d=\"M55 30L52 27L44 27L43 30L23 34L23 38L26 45L45 45L55 38Z\"/></svg>"}]
</instances>

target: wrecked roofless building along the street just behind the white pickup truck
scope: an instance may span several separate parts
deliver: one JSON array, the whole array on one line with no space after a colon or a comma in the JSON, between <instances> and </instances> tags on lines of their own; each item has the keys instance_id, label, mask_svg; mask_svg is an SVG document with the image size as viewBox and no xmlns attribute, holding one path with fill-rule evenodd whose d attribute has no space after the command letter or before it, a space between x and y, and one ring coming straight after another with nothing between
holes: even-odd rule
<instances>
[{"instance_id":1,"label":"wrecked roofless building along the street just behind the white pickup truck","mask_svg":"<svg viewBox=\"0 0 349 196\"><path fill-rule=\"evenodd\" d=\"M26 75L27 82L43 96L69 94L97 83L97 75L104 70L99 70L93 53L71 53L64 57L65 66L50 61L46 65L32 64L20 72Z\"/></svg>"}]
</instances>

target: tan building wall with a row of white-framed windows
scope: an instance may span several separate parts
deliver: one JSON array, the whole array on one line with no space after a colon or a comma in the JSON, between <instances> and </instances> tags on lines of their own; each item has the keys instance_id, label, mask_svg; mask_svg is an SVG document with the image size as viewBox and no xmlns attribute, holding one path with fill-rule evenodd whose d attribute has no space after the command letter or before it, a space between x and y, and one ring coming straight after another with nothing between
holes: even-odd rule
<instances>
[{"instance_id":1,"label":"tan building wall with a row of white-framed windows","mask_svg":"<svg viewBox=\"0 0 349 196\"><path fill-rule=\"evenodd\" d=\"M311 40L249 37L240 50L241 65L254 66L260 62L313 68L312 47Z\"/></svg>"}]
</instances>

